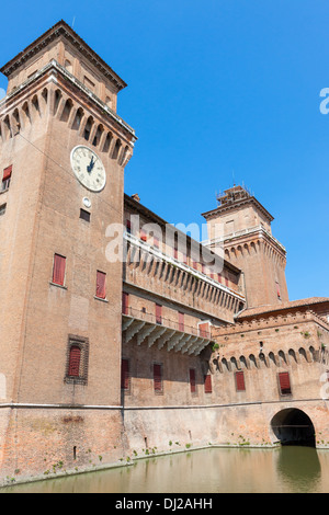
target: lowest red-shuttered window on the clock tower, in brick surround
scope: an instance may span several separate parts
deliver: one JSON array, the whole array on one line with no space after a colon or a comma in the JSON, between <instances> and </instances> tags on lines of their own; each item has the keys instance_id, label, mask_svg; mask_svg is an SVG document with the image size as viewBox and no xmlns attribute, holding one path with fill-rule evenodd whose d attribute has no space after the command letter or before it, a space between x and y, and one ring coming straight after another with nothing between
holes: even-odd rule
<instances>
[{"instance_id":1,"label":"lowest red-shuttered window on the clock tower, in brick surround","mask_svg":"<svg viewBox=\"0 0 329 515\"><path fill-rule=\"evenodd\" d=\"M65 382L87 385L89 341L86 337L69 335Z\"/></svg>"}]
</instances>

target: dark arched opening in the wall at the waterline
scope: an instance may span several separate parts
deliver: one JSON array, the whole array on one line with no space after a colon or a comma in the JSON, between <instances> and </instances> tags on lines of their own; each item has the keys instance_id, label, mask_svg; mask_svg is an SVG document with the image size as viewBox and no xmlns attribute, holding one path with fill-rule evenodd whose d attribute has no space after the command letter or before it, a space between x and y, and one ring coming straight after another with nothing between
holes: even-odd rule
<instances>
[{"instance_id":1,"label":"dark arched opening in the wall at the waterline","mask_svg":"<svg viewBox=\"0 0 329 515\"><path fill-rule=\"evenodd\" d=\"M316 447L313 422L302 410L287 408L279 411L271 420L271 427L282 445Z\"/></svg>"}]
</instances>

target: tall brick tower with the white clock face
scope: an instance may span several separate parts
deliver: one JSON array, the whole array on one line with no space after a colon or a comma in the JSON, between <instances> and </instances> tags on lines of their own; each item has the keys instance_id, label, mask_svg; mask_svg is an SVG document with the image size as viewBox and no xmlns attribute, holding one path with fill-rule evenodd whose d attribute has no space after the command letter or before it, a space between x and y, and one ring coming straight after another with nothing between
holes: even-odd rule
<instances>
[{"instance_id":1,"label":"tall brick tower with the white clock face","mask_svg":"<svg viewBox=\"0 0 329 515\"><path fill-rule=\"evenodd\" d=\"M105 250L136 140L126 83L64 21L1 72L2 474L115 461L122 263Z\"/></svg>"}]
</instances>

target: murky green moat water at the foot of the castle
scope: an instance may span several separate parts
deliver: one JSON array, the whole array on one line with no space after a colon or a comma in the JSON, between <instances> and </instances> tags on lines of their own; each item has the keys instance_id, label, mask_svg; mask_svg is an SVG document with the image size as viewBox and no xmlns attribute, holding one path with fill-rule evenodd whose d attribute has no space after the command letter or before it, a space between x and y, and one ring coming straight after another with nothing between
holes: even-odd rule
<instances>
[{"instance_id":1,"label":"murky green moat water at the foot of the castle","mask_svg":"<svg viewBox=\"0 0 329 515\"><path fill-rule=\"evenodd\" d=\"M328 493L329 450L209 448L1 493Z\"/></svg>"}]
</instances>

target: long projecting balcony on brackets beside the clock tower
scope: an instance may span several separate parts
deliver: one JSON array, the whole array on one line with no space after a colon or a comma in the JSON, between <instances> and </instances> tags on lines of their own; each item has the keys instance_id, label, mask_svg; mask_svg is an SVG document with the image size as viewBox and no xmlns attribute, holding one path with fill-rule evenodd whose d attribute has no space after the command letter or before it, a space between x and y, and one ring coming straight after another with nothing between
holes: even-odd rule
<instances>
[{"instance_id":1,"label":"long projecting balcony on brackets beside the clock tower","mask_svg":"<svg viewBox=\"0 0 329 515\"><path fill-rule=\"evenodd\" d=\"M125 343L136 337L137 345L147 343L149 348L157 345L159 350L197 356L207 345L215 343L209 329L205 330L202 324L203 322L197 328L189 327L138 309L126 308L122 316L122 334Z\"/></svg>"}]
</instances>

